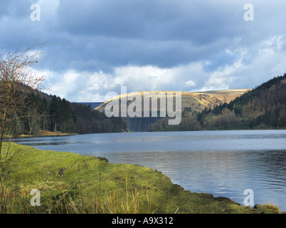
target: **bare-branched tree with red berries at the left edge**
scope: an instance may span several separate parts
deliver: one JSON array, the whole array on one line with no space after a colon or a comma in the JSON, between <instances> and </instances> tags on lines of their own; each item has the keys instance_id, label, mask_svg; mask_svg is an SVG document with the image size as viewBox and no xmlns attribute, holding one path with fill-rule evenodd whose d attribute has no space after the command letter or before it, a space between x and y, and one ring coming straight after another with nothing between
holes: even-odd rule
<instances>
[{"instance_id":1,"label":"bare-branched tree with red berries at the left edge","mask_svg":"<svg viewBox=\"0 0 286 228\"><path fill-rule=\"evenodd\" d=\"M36 76L31 72L33 64L40 61L43 54L41 48L48 42L33 43L24 51L21 46L14 53L1 49L0 53L0 161L2 141L5 134L7 121L19 119L23 115L23 108L26 107L26 95L30 91L39 92L43 89L43 81L46 76Z\"/></svg>"}]
</instances>

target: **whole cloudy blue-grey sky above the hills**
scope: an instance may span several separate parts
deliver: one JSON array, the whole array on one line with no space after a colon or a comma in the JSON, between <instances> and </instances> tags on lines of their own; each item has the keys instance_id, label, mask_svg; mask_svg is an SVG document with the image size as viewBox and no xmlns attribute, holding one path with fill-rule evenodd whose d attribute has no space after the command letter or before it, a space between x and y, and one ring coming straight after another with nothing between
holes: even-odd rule
<instances>
[{"instance_id":1,"label":"whole cloudy blue-grey sky above the hills","mask_svg":"<svg viewBox=\"0 0 286 228\"><path fill-rule=\"evenodd\" d=\"M104 101L122 86L127 93L255 88L286 73L285 0L0 5L0 47L51 42L32 70L46 76L44 93L71 102Z\"/></svg>"}]
</instances>

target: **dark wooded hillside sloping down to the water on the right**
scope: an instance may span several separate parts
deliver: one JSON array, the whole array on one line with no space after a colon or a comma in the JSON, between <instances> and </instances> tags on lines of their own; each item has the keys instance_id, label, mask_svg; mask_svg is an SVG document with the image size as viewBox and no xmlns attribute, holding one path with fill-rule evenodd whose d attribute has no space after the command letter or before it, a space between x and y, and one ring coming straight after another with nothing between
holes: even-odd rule
<instances>
[{"instance_id":1,"label":"dark wooded hillside sloping down to the water on the right","mask_svg":"<svg viewBox=\"0 0 286 228\"><path fill-rule=\"evenodd\" d=\"M257 86L235 98L198 114L203 129L286 128L286 74Z\"/></svg>"}]
</instances>

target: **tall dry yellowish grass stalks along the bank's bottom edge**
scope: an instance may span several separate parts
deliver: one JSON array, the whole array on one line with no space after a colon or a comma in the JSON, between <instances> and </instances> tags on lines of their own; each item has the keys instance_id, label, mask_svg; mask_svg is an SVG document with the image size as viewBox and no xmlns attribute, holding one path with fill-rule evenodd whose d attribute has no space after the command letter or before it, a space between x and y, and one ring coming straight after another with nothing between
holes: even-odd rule
<instances>
[{"instance_id":1,"label":"tall dry yellowish grass stalks along the bank's bottom edge","mask_svg":"<svg viewBox=\"0 0 286 228\"><path fill-rule=\"evenodd\" d=\"M125 194L120 190L88 193L63 190L55 197L41 198L41 206L31 206L30 190L1 182L0 214L150 214L154 213L149 201L147 187L132 189L126 183ZM59 183L38 182L55 190ZM57 186L55 186L55 184ZM78 188L80 189L80 188Z\"/></svg>"}]
</instances>

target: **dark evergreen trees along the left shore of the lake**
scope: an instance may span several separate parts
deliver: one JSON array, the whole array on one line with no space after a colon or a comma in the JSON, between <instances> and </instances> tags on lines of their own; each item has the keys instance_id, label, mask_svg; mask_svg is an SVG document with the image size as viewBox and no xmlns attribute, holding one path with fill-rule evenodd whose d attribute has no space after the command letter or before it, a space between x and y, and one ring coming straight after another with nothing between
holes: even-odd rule
<instances>
[{"instance_id":1,"label":"dark evergreen trees along the left shore of the lake","mask_svg":"<svg viewBox=\"0 0 286 228\"><path fill-rule=\"evenodd\" d=\"M29 93L25 108L18 117L10 117L6 135L40 135L54 133L112 133L127 128L121 118L107 118L104 113L91 110L90 105L70 103L56 95Z\"/></svg>"}]
</instances>

